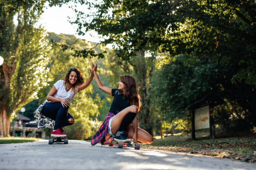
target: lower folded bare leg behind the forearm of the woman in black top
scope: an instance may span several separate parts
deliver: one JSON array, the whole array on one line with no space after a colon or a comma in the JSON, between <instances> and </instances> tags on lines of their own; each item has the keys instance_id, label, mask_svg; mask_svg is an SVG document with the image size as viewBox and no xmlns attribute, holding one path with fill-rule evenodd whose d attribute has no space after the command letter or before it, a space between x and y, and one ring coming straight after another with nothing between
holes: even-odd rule
<instances>
[{"instance_id":1,"label":"lower folded bare leg behind the forearm of the woman in black top","mask_svg":"<svg viewBox=\"0 0 256 170\"><path fill-rule=\"evenodd\" d=\"M129 125L128 126L128 129L129 129L129 133L128 133L128 138L133 138L133 126L132 125ZM140 141L141 143L152 143L153 142L153 137L147 133L145 130L141 129L141 128L138 128L138 132L137 132L137 138L138 138L138 141Z\"/></svg>"}]
</instances>

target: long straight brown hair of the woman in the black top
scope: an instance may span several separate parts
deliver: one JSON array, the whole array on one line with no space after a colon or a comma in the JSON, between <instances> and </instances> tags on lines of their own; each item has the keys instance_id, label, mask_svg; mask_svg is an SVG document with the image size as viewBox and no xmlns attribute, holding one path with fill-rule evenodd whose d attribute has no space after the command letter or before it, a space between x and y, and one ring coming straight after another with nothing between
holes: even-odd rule
<instances>
[{"instance_id":1,"label":"long straight brown hair of the woman in the black top","mask_svg":"<svg viewBox=\"0 0 256 170\"><path fill-rule=\"evenodd\" d=\"M125 99L131 102L131 105L136 105L139 111L141 107L141 96L136 90L135 79L131 75L122 75L120 81L125 84L125 92L123 94Z\"/></svg>"}]
</instances>

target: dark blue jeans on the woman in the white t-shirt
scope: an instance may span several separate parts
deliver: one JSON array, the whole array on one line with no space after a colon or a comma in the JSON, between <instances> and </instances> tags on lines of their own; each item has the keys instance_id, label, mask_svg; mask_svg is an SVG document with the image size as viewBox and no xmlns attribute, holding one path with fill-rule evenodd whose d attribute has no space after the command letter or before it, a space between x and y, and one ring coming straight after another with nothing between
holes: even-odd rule
<instances>
[{"instance_id":1,"label":"dark blue jeans on the woman in the white t-shirt","mask_svg":"<svg viewBox=\"0 0 256 170\"><path fill-rule=\"evenodd\" d=\"M63 107L61 102L48 102L44 105L42 113L46 117L55 120L54 130L56 130L74 124L74 122L69 122L70 118L74 118L67 112L68 109L69 107Z\"/></svg>"}]
</instances>

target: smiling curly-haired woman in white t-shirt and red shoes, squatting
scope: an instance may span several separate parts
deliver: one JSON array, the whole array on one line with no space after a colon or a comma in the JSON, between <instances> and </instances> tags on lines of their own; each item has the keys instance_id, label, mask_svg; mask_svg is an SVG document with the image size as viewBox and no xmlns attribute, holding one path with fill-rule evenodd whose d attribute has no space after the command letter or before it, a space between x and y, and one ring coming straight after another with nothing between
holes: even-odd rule
<instances>
[{"instance_id":1,"label":"smiling curly-haired woman in white t-shirt and red shoes, squatting","mask_svg":"<svg viewBox=\"0 0 256 170\"><path fill-rule=\"evenodd\" d=\"M90 77L84 82L82 73L77 68L71 68L67 71L64 79L58 80L54 84L45 102L34 112L38 129L52 128L52 120L55 120L51 136L67 136L63 133L63 127L74 124L74 118L67 112L69 103L77 92L90 85L94 76L91 69L90 72Z\"/></svg>"}]
</instances>

